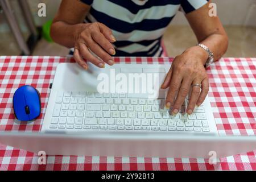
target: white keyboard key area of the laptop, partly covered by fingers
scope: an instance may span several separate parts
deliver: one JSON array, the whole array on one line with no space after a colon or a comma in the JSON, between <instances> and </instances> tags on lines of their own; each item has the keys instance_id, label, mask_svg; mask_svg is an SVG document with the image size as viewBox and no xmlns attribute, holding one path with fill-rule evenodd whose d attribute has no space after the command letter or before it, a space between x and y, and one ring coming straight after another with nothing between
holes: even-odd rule
<instances>
[{"instance_id":1,"label":"white keyboard key area of the laptop, partly covered by fingers","mask_svg":"<svg viewBox=\"0 0 256 182\"><path fill-rule=\"evenodd\" d=\"M130 94L58 92L50 130L187 131L210 132L204 106L193 114L184 107L174 116L164 99L135 98ZM188 104L188 99L186 101Z\"/></svg>"}]
</instances>

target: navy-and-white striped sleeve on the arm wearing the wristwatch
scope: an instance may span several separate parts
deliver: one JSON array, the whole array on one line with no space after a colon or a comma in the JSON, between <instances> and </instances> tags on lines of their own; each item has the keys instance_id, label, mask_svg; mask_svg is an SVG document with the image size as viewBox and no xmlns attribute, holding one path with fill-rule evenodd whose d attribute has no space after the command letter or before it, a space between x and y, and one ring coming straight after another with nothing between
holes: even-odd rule
<instances>
[{"instance_id":1,"label":"navy-and-white striped sleeve on the arm wearing the wristwatch","mask_svg":"<svg viewBox=\"0 0 256 182\"><path fill-rule=\"evenodd\" d=\"M209 0L181 0L181 8L184 13L191 13L208 3Z\"/></svg>"}]
</instances>

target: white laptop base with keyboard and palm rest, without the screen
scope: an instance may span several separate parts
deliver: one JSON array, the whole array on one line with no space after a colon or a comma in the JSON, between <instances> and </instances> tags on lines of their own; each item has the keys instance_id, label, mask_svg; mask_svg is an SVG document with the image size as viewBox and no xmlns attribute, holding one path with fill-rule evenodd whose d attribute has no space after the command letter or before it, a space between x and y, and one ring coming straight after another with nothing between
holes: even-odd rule
<instances>
[{"instance_id":1,"label":"white laptop base with keyboard and palm rest, without the screen","mask_svg":"<svg viewBox=\"0 0 256 182\"><path fill-rule=\"evenodd\" d=\"M185 114L189 97L176 116L164 107L168 89L159 88L170 64L89 67L58 65L42 131L218 134L208 97L192 115Z\"/></svg>"}]
</instances>

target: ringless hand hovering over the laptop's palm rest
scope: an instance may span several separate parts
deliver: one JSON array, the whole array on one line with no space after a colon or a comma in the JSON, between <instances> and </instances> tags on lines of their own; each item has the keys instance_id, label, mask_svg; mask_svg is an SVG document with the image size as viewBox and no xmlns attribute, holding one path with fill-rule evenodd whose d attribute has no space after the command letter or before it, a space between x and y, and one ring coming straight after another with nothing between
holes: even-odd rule
<instances>
[{"instance_id":1,"label":"ringless hand hovering over the laptop's palm rest","mask_svg":"<svg viewBox=\"0 0 256 182\"><path fill-rule=\"evenodd\" d=\"M85 60L100 68L105 68L105 63L114 64L110 55L115 55L112 43L116 40L110 28L98 22L85 23L76 32L74 58L82 68L88 68ZM94 56L89 49L98 57Z\"/></svg>"}]
</instances>

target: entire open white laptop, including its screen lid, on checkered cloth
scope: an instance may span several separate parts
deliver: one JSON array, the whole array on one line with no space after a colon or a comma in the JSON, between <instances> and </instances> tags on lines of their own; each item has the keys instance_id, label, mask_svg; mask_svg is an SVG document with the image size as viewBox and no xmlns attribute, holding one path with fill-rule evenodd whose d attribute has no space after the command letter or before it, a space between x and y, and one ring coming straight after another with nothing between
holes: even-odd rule
<instances>
[{"instance_id":1,"label":"entire open white laptop, including its screen lid, on checkered cloth","mask_svg":"<svg viewBox=\"0 0 256 182\"><path fill-rule=\"evenodd\" d=\"M89 66L84 71L74 63L59 64L42 131L0 132L0 143L47 155L81 156L220 158L256 149L256 137L218 136L208 97L187 115L188 96L172 116L164 108L167 90L158 90L169 64ZM131 84L137 76L142 82ZM141 92L145 86L148 92ZM127 92L116 92L120 90Z\"/></svg>"}]
</instances>

